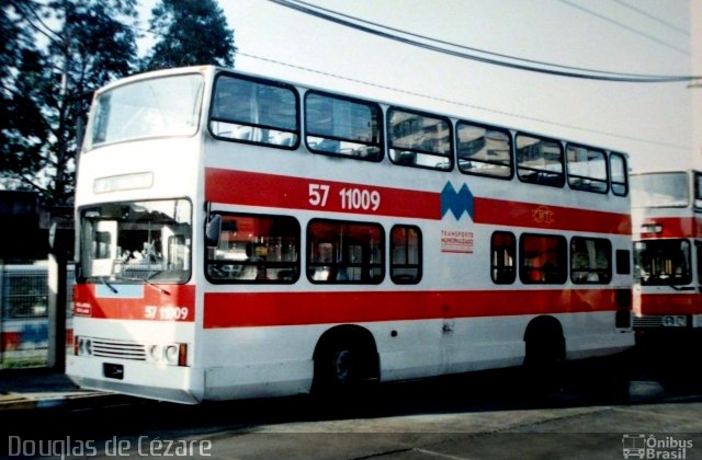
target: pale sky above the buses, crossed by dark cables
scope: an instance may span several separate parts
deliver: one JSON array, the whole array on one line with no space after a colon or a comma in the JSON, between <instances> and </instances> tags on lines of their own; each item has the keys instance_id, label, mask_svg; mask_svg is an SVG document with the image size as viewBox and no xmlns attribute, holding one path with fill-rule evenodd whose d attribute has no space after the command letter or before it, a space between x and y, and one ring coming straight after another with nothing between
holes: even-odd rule
<instances>
[{"instance_id":1,"label":"pale sky above the buses, crossed by dark cables","mask_svg":"<svg viewBox=\"0 0 702 460\"><path fill-rule=\"evenodd\" d=\"M530 72L400 43L269 0L218 2L235 31L238 70L622 151L634 172L702 165L702 88L689 82ZM463 54L477 54L469 47L608 72L702 74L702 0L304 2Z\"/></svg>"}]
</instances>

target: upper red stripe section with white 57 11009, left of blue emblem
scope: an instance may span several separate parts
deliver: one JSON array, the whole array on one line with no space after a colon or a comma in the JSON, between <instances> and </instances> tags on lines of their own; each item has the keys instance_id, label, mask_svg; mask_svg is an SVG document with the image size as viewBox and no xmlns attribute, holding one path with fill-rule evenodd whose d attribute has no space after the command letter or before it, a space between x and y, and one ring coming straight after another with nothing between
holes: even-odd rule
<instances>
[{"instance_id":1,"label":"upper red stripe section with white 57 11009, left of blue emblem","mask_svg":"<svg viewBox=\"0 0 702 460\"><path fill-rule=\"evenodd\" d=\"M354 193L358 199L354 199ZM372 197L378 197L380 202ZM205 199L287 209L441 219L441 195L438 193L212 168L205 173ZM318 199L317 204L314 204L315 199Z\"/></svg>"}]
</instances>

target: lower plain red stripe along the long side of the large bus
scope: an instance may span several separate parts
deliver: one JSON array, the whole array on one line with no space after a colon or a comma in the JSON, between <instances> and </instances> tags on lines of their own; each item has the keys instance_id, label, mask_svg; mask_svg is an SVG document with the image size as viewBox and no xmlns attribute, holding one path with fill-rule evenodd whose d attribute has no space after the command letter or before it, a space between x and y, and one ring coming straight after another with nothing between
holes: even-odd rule
<instances>
[{"instance_id":1,"label":"lower plain red stripe along the long side of the large bus","mask_svg":"<svg viewBox=\"0 0 702 460\"><path fill-rule=\"evenodd\" d=\"M615 309L614 289L206 292L204 327L485 318Z\"/></svg>"}]
</instances>

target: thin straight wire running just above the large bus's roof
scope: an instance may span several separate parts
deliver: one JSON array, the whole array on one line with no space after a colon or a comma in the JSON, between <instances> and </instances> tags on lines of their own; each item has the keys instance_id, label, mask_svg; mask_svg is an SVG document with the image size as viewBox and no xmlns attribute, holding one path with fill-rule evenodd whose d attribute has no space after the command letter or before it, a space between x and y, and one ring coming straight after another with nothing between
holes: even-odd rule
<instances>
[{"instance_id":1,"label":"thin straight wire running just above the large bus's roof","mask_svg":"<svg viewBox=\"0 0 702 460\"><path fill-rule=\"evenodd\" d=\"M680 146L680 145L676 145L676 143L671 143L671 142L661 142L661 141L658 141L658 140L642 139L641 137L625 136L625 135L622 135L622 134L619 134L619 133L610 133L610 131L604 131L604 130L600 130L600 129L592 129L592 128L585 128L582 126L569 125L567 123L552 122L552 120L548 120L548 119L543 119L543 118L537 118L537 117L533 117L533 116L516 114L516 113L511 113L511 112L507 112L507 111L500 111L500 110L497 110L497 108L484 107L482 105L468 104L468 103L465 103L465 102L454 101L454 100L451 100L451 99L438 97L438 96L433 96L433 95L429 95L429 94L419 93L419 92L416 92L416 91L403 90L403 89L399 89L399 88L388 87L388 85L385 85L385 84L374 83L374 82L371 82L371 81L361 80L361 79L356 79L356 78L344 77L344 76L340 76L338 73L332 73L332 72L329 72L329 71L326 71L326 70L310 69L308 67L304 67L304 66L299 66L299 65L295 65L295 64L290 64L290 62L285 62L285 61L281 61L281 60L276 60L276 59L271 59L271 58L267 58L267 57L262 57L262 56L254 56L254 55L250 55L250 54L244 53L244 51L237 51L237 54L239 56L248 57L250 59L262 60L264 62L274 64L274 65L278 65L278 66L284 66L284 67L290 67L292 69L304 70L306 72L316 73L316 74L320 74L320 76L325 76L325 77L331 77L331 78L336 78L336 79L339 79L339 80L344 80L344 81L348 81L348 82L351 82L351 83L360 83L360 84L364 84L364 85L367 85L367 87L377 88L377 89L381 89L381 90L384 90L384 91L393 91L393 92L400 93L400 94L407 94L407 95L411 95L411 96L427 99L427 100L430 100L430 101L448 103L448 104L462 106L462 107L467 107L467 108L472 108L472 110L477 110L477 111L480 111L480 112L487 112L487 113L491 113L491 114L496 114L496 115L511 116L511 117L514 117L514 118L525 119L525 120L529 120L529 122L537 122L537 123L543 123L543 124L546 124L546 125L557 126L557 127L561 127L561 128L568 128L568 129L574 129L574 130L584 131L584 133L591 133L591 134L604 135L604 136L609 136L609 137L613 137L613 138L633 140L633 141L641 142L641 143L648 143L648 145L654 145L654 146L668 147L668 148L673 148L673 149L677 149L677 150L689 150L689 147Z\"/></svg>"}]
</instances>

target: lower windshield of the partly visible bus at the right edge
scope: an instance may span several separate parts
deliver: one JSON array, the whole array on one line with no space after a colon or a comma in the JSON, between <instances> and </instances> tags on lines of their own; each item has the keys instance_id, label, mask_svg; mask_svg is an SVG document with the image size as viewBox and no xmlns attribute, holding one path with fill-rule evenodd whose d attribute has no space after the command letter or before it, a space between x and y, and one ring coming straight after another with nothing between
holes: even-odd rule
<instances>
[{"instance_id":1,"label":"lower windshield of the partly visible bus at the right edge","mask_svg":"<svg viewBox=\"0 0 702 460\"><path fill-rule=\"evenodd\" d=\"M634 277L644 286L687 285L692 281L688 240L637 241Z\"/></svg>"}]
</instances>

